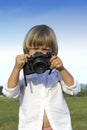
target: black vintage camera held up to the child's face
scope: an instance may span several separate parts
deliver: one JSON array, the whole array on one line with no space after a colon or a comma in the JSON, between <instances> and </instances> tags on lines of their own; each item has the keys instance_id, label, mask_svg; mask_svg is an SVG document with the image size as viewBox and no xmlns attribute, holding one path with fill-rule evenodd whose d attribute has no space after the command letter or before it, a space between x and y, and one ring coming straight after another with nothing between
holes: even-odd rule
<instances>
[{"instance_id":1,"label":"black vintage camera held up to the child's face","mask_svg":"<svg viewBox=\"0 0 87 130\"><path fill-rule=\"evenodd\" d=\"M51 52L42 54L41 52L36 52L33 56L28 58L28 62L23 66L24 78L26 75L33 73L44 73L46 70L50 70L50 58L52 57ZM49 71L49 74L51 70ZM25 78L26 82L26 78Z\"/></svg>"}]
</instances>

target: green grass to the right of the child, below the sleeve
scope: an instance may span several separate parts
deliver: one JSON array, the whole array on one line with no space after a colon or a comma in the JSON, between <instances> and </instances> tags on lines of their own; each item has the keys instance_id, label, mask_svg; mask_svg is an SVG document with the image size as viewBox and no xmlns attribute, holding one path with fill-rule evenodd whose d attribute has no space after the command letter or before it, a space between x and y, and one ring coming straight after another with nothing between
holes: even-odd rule
<instances>
[{"instance_id":1,"label":"green grass to the right of the child, below the sleeve","mask_svg":"<svg viewBox=\"0 0 87 130\"><path fill-rule=\"evenodd\" d=\"M77 96L66 96L66 101L71 113L73 130L87 130L87 92Z\"/></svg>"}]
</instances>

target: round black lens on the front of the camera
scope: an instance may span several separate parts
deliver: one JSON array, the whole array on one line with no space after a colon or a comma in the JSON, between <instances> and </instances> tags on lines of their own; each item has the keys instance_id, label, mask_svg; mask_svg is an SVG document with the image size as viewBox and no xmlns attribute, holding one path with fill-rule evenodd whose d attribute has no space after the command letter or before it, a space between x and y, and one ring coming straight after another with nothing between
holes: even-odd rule
<instances>
[{"instance_id":1,"label":"round black lens on the front of the camera","mask_svg":"<svg viewBox=\"0 0 87 130\"><path fill-rule=\"evenodd\" d=\"M33 63L33 69L38 74L44 73L47 70L47 64L44 60L38 58Z\"/></svg>"}]
</instances>

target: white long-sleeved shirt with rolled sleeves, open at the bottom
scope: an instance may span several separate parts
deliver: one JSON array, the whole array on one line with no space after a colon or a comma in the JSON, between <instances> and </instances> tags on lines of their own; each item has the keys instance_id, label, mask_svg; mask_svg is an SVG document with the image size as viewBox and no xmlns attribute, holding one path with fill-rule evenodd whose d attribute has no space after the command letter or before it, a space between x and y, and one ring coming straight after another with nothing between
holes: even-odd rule
<instances>
[{"instance_id":1,"label":"white long-sleeved shirt with rolled sleeves, open at the bottom","mask_svg":"<svg viewBox=\"0 0 87 130\"><path fill-rule=\"evenodd\" d=\"M23 74L16 88L3 87L3 93L9 98L20 96L18 130L42 130L44 110L53 130L72 130L68 106L63 91L69 95L80 92L80 85L74 79L74 85L68 87L58 71L51 74Z\"/></svg>"}]
</instances>

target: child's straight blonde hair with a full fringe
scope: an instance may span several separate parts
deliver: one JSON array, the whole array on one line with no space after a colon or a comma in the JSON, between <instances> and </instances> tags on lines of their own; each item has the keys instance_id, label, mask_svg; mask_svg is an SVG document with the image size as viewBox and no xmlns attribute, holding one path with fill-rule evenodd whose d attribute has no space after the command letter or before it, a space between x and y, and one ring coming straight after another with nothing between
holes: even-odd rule
<instances>
[{"instance_id":1,"label":"child's straight blonde hair with a full fringe","mask_svg":"<svg viewBox=\"0 0 87 130\"><path fill-rule=\"evenodd\" d=\"M53 29L47 25L36 25L27 32L23 43L23 52L27 54L29 47L39 46L50 47L55 55L58 53L56 35Z\"/></svg>"}]
</instances>

